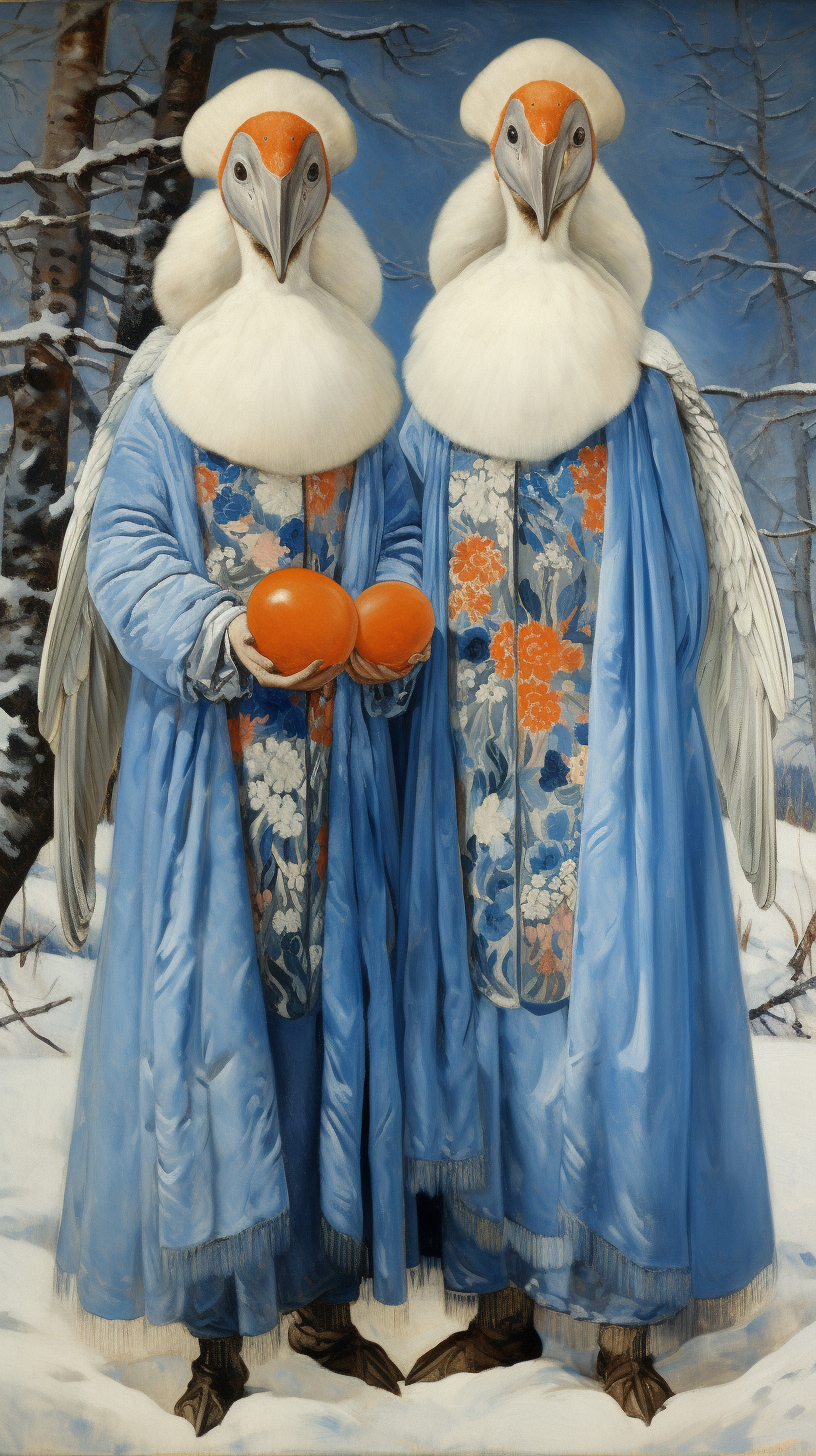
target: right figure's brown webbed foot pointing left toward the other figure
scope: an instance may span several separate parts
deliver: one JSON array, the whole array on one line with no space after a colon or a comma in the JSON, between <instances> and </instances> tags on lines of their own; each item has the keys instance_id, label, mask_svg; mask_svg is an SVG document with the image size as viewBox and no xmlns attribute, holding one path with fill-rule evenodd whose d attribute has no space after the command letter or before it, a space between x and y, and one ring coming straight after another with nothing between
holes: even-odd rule
<instances>
[{"instance_id":1,"label":"right figure's brown webbed foot pointing left toward the other figure","mask_svg":"<svg viewBox=\"0 0 816 1456\"><path fill-rule=\"evenodd\" d=\"M459 1329L420 1356L405 1385L538 1360L541 1340L533 1325L533 1312L530 1296L513 1286L497 1294L479 1294L476 1318L466 1329Z\"/></svg>"}]
</instances>

